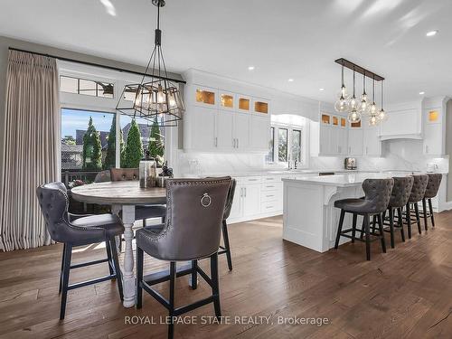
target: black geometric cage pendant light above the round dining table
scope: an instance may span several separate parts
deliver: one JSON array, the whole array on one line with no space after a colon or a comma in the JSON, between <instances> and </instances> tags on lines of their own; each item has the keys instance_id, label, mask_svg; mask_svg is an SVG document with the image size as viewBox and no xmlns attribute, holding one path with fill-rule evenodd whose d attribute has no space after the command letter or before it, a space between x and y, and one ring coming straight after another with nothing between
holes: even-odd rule
<instances>
[{"instance_id":1,"label":"black geometric cage pendant light above the round dining table","mask_svg":"<svg viewBox=\"0 0 452 339\"><path fill-rule=\"evenodd\" d=\"M179 81L168 78L162 52L160 7L165 6L165 0L152 0L152 4L157 7L154 50L141 82L124 87L117 109L132 118L144 118L151 124L176 127L177 121L183 118L185 107L177 85Z\"/></svg>"}]
</instances>

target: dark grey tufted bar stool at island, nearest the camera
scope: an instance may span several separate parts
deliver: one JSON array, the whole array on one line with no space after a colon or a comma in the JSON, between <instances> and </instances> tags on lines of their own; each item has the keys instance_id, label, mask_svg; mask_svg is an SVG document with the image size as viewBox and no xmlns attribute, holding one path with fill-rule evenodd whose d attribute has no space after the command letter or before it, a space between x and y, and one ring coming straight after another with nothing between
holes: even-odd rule
<instances>
[{"instance_id":1,"label":"dark grey tufted bar stool at island, nearest the camera","mask_svg":"<svg viewBox=\"0 0 452 339\"><path fill-rule=\"evenodd\" d=\"M371 241L381 240L381 249L386 253L386 243L384 240L383 223L381 221L381 213L386 211L391 198L392 186L394 181L388 179L366 179L363 182L363 199L343 199L334 202L334 207L341 209L339 218L339 227L337 229L336 241L334 249L339 246L339 240L342 237L354 240L362 240L356 238L356 219L358 215L363 215L363 229L366 243L366 259L371 259ZM345 212L353 213L353 226L351 229L343 231ZM379 233L371 231L369 217L376 216L379 224ZM348 233L352 232L352 235ZM371 240L371 235L375 238Z\"/></svg>"}]
</instances>

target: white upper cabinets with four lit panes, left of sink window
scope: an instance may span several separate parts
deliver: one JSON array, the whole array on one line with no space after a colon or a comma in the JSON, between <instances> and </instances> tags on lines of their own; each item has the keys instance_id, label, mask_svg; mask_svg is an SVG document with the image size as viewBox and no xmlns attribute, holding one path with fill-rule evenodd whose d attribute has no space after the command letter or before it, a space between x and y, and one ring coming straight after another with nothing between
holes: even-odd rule
<instances>
[{"instance_id":1,"label":"white upper cabinets with four lit panes, left of sink window","mask_svg":"<svg viewBox=\"0 0 452 339\"><path fill-rule=\"evenodd\" d=\"M185 88L184 149L199 152L266 152L269 101L228 90Z\"/></svg>"}]
</instances>

